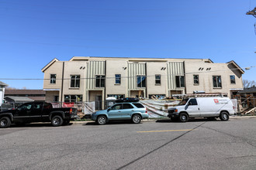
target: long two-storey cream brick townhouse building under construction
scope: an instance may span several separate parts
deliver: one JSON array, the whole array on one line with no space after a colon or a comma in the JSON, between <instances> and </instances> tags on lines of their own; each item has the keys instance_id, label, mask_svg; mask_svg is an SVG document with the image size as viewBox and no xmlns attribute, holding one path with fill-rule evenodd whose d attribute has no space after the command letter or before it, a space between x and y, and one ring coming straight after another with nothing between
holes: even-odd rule
<instances>
[{"instance_id":1,"label":"long two-storey cream brick townhouse building under construction","mask_svg":"<svg viewBox=\"0 0 256 170\"><path fill-rule=\"evenodd\" d=\"M74 56L43 67L46 101L79 102L107 97L171 97L173 94L231 93L243 89L244 70L234 61L210 59Z\"/></svg>"}]
</instances>

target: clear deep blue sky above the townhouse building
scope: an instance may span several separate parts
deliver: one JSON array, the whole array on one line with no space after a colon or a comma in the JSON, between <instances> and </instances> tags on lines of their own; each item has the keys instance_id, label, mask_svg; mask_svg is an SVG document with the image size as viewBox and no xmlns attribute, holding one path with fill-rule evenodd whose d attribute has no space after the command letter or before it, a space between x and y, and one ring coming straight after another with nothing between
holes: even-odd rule
<instances>
[{"instance_id":1,"label":"clear deep blue sky above the townhouse building","mask_svg":"<svg viewBox=\"0 0 256 170\"><path fill-rule=\"evenodd\" d=\"M0 0L0 81L42 89L55 57L209 58L256 66L256 0ZM244 80L256 80L256 67Z\"/></svg>"}]
</instances>

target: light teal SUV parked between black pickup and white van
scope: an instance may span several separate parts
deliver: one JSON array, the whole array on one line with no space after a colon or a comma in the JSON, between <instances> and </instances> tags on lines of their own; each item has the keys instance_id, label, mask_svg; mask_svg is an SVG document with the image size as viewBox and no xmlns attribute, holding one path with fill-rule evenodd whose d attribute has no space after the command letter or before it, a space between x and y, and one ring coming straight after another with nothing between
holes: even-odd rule
<instances>
[{"instance_id":1,"label":"light teal SUV parked between black pickup and white van","mask_svg":"<svg viewBox=\"0 0 256 170\"><path fill-rule=\"evenodd\" d=\"M139 102L114 104L107 110L99 110L92 114L92 120L98 124L114 120L131 120L134 124L140 124L144 118L148 118L147 109Z\"/></svg>"}]
</instances>

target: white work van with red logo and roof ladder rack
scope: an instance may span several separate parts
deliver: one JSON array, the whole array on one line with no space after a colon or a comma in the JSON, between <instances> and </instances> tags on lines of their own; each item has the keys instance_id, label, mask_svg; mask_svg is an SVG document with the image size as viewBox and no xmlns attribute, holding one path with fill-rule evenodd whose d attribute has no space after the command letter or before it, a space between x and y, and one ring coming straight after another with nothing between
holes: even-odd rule
<instances>
[{"instance_id":1,"label":"white work van with red logo and roof ladder rack","mask_svg":"<svg viewBox=\"0 0 256 170\"><path fill-rule=\"evenodd\" d=\"M171 121L189 121L190 117L207 117L228 121L234 115L232 101L228 97L194 97L183 99L176 107L168 109Z\"/></svg>"}]
</instances>

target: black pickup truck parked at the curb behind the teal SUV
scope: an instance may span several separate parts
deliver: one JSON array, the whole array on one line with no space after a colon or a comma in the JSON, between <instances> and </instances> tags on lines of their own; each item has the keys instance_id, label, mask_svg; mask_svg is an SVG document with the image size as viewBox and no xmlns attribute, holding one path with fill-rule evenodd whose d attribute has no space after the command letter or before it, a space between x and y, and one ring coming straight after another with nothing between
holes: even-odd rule
<instances>
[{"instance_id":1,"label":"black pickup truck parked at the curb behind the teal SUV","mask_svg":"<svg viewBox=\"0 0 256 170\"><path fill-rule=\"evenodd\" d=\"M73 107L53 108L46 102L22 104L15 110L0 112L0 128L9 128L10 124L28 124L32 122L51 122L53 126L69 124L78 117L78 110Z\"/></svg>"}]
</instances>

